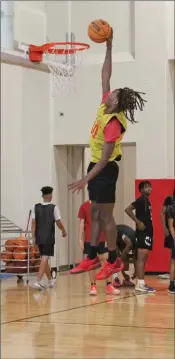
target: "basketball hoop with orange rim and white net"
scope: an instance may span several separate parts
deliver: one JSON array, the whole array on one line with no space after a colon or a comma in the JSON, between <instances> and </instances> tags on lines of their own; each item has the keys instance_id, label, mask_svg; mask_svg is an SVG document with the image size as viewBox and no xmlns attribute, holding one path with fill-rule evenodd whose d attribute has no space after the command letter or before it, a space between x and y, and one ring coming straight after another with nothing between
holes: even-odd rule
<instances>
[{"instance_id":1,"label":"basketball hoop with orange rim and white net","mask_svg":"<svg viewBox=\"0 0 175 359\"><path fill-rule=\"evenodd\" d=\"M81 42L53 42L42 46L29 46L29 59L44 63L52 74L52 95L70 95L75 90L76 66L83 62L83 55L89 49Z\"/></svg>"}]
</instances>

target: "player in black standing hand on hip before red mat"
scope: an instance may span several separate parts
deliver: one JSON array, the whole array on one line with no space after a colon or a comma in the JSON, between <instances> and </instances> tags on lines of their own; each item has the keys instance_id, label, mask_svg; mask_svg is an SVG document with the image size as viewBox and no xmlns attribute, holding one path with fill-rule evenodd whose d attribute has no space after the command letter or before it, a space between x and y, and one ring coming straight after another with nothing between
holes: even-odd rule
<instances>
[{"instance_id":1,"label":"player in black standing hand on hip before red mat","mask_svg":"<svg viewBox=\"0 0 175 359\"><path fill-rule=\"evenodd\" d=\"M154 293L155 289L145 284L145 264L148 253L153 246L153 224L152 211L149 196L152 192L152 186L149 181L139 183L141 196L132 202L126 209L127 215L136 223L136 292ZM135 211L135 214L133 213Z\"/></svg>"}]
</instances>

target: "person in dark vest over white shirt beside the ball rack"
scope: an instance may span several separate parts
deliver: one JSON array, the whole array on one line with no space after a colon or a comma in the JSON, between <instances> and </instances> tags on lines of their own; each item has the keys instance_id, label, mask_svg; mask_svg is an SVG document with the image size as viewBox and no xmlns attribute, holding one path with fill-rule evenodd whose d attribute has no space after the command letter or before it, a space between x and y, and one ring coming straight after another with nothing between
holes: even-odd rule
<instances>
[{"instance_id":1,"label":"person in dark vest over white shirt beside the ball rack","mask_svg":"<svg viewBox=\"0 0 175 359\"><path fill-rule=\"evenodd\" d=\"M32 237L35 244L38 245L41 255L38 278L33 284L33 287L36 289L44 288L41 283L44 274L46 274L50 288L55 284L54 280L52 280L48 264L49 257L54 256L55 222L57 227L62 231L62 236L66 237L67 235L61 221L59 209L51 203L53 188L43 187L41 192L43 202L36 204L32 209Z\"/></svg>"}]
</instances>

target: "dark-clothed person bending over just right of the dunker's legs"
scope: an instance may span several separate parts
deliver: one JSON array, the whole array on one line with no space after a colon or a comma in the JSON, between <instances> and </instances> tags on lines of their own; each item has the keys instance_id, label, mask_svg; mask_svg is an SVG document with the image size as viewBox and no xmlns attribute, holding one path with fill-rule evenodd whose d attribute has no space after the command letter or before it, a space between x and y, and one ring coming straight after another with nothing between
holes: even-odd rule
<instances>
[{"instance_id":1,"label":"dark-clothed person bending over just right of the dunker's legs","mask_svg":"<svg viewBox=\"0 0 175 359\"><path fill-rule=\"evenodd\" d=\"M134 283L130 280L129 275L129 252L132 251L135 255L134 248L135 248L135 239L136 239L136 233L135 231L124 224L118 224L116 226L117 228L117 247L120 251L120 257L122 262L124 263L124 269L122 270L122 275L124 277L124 280L122 284L120 283L120 280L118 278L118 274L115 273L113 275L114 281L113 285L114 287L134 287Z\"/></svg>"}]
</instances>

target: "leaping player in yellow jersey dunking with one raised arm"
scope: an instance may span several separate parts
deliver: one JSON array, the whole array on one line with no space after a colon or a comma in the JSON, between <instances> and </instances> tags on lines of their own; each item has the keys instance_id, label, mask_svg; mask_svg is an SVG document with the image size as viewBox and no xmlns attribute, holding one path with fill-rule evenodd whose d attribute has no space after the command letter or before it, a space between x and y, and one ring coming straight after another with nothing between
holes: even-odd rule
<instances>
[{"instance_id":1,"label":"leaping player in yellow jersey dunking with one raised arm","mask_svg":"<svg viewBox=\"0 0 175 359\"><path fill-rule=\"evenodd\" d=\"M86 272L100 267L97 244L101 228L103 228L109 254L102 270L96 275L97 280L106 279L123 269L123 263L117 258L117 233L113 218L116 182L119 174L117 161L120 161L122 157L120 142L127 129L127 120L135 123L134 110L142 111L145 102L140 93L129 88L118 88L110 92L112 38L107 40L106 45L106 56L102 68L103 98L90 137L91 162L87 175L68 186L73 192L79 192L88 183L89 199L92 201L92 233L88 256L71 270L71 273Z\"/></svg>"}]
</instances>

